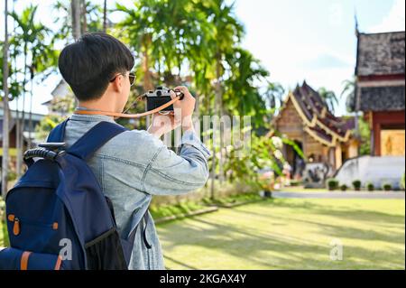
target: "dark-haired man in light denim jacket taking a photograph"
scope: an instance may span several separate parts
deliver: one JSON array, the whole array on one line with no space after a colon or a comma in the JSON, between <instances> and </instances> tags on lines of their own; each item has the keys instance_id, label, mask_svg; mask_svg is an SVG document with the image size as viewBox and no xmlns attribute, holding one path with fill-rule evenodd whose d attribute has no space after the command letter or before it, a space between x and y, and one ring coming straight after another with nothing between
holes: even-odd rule
<instances>
[{"instance_id":1,"label":"dark-haired man in light denim jacket taking a photograph","mask_svg":"<svg viewBox=\"0 0 406 288\"><path fill-rule=\"evenodd\" d=\"M121 113L128 100L134 75L131 52L122 42L105 33L89 33L60 53L63 79L78 98L78 109ZM161 125L160 115L152 116L147 131L131 130L115 136L100 148L88 165L105 195L112 200L117 228L122 237L138 224L129 269L164 269L161 245L148 209L152 195L175 195L202 187L208 180L208 149L195 134L191 116L195 99L188 88L173 106L175 115ZM172 93L172 98L175 95ZM180 113L178 115L178 113ZM174 119L181 119L175 121ZM65 143L74 144L100 121L114 117L78 115L69 117ZM159 137L181 125L180 153L173 153ZM145 232L143 232L145 230Z\"/></svg>"}]
</instances>

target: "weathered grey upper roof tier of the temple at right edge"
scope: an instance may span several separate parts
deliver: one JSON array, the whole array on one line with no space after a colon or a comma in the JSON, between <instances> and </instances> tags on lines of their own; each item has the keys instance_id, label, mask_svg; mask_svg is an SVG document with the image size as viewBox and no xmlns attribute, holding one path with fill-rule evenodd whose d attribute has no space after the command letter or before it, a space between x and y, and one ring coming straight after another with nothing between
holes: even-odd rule
<instances>
[{"instance_id":1,"label":"weathered grey upper roof tier of the temple at right edge","mask_svg":"<svg viewBox=\"0 0 406 288\"><path fill-rule=\"evenodd\" d=\"M359 33L355 75L404 74L404 34Z\"/></svg>"}]
</instances>

